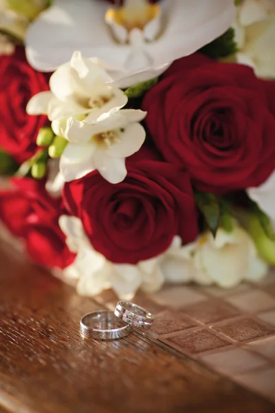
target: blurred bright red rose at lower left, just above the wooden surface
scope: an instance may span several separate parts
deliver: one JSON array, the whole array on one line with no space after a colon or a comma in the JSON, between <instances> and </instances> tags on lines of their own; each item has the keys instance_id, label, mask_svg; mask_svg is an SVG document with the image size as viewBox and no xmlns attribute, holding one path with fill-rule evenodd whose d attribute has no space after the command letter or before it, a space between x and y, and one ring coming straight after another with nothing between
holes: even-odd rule
<instances>
[{"instance_id":1,"label":"blurred bright red rose at lower left, just above the wooden surface","mask_svg":"<svg viewBox=\"0 0 275 413\"><path fill-rule=\"evenodd\" d=\"M0 191L0 219L39 264L65 268L74 260L58 226L61 200L50 198L45 182L28 178L12 180L14 188Z\"/></svg>"}]
</instances>

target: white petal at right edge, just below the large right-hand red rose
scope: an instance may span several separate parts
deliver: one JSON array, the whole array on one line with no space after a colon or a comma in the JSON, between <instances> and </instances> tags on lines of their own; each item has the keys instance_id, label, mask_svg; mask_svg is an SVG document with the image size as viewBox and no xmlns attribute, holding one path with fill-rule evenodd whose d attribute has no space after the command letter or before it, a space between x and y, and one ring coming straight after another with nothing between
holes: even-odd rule
<instances>
[{"instance_id":1,"label":"white petal at right edge, just below the large right-hand red rose","mask_svg":"<svg viewBox=\"0 0 275 413\"><path fill-rule=\"evenodd\" d=\"M270 217L275 231L275 171L261 187L250 188L247 192L248 196Z\"/></svg>"}]
</instances>

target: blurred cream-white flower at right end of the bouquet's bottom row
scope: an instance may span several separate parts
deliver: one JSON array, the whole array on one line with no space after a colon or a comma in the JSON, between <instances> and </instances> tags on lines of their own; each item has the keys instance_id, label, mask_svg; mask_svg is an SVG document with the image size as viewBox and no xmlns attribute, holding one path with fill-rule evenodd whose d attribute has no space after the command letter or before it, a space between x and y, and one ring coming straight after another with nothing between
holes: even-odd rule
<instances>
[{"instance_id":1,"label":"blurred cream-white flower at right end of the bouquet's bottom row","mask_svg":"<svg viewBox=\"0 0 275 413\"><path fill-rule=\"evenodd\" d=\"M232 288L242 280L259 281L267 273L248 233L237 224L231 233L218 229L201 235L195 249L195 282Z\"/></svg>"}]
</instances>

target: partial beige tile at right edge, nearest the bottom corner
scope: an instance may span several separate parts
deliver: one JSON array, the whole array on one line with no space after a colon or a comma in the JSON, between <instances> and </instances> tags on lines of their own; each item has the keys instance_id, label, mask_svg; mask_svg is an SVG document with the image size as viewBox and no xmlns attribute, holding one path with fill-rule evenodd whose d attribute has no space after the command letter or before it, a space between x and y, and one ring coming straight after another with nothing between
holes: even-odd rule
<instances>
[{"instance_id":1,"label":"partial beige tile at right edge, nearest the bottom corner","mask_svg":"<svg viewBox=\"0 0 275 413\"><path fill-rule=\"evenodd\" d=\"M235 380L275 401L275 368L263 368L240 374Z\"/></svg>"}]
</instances>

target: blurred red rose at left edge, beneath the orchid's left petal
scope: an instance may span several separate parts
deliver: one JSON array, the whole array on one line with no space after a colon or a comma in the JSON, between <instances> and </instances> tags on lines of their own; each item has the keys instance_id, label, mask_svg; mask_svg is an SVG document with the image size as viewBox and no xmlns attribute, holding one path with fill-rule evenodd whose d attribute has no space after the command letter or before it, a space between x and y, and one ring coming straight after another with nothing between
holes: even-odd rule
<instances>
[{"instance_id":1,"label":"blurred red rose at left edge, beneath the orchid's left petal","mask_svg":"<svg viewBox=\"0 0 275 413\"><path fill-rule=\"evenodd\" d=\"M0 147L19 164L36 151L36 136L46 116L28 116L25 107L32 96L49 89L46 75L36 72L23 49L0 59Z\"/></svg>"}]
</instances>

